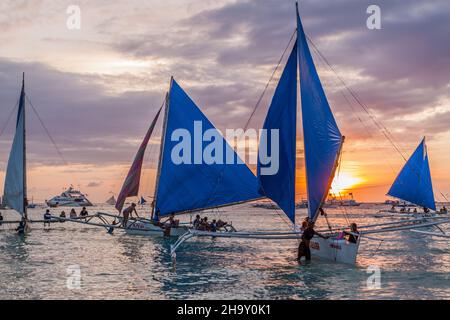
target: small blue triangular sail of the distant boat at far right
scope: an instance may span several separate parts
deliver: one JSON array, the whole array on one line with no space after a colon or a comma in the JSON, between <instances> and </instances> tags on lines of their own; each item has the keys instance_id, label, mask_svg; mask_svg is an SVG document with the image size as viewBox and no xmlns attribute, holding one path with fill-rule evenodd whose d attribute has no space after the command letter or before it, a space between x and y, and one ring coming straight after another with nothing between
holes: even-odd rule
<instances>
[{"instance_id":1,"label":"small blue triangular sail of the distant boat at far right","mask_svg":"<svg viewBox=\"0 0 450 320\"><path fill-rule=\"evenodd\" d=\"M436 211L425 138L400 171L388 194Z\"/></svg>"}]
</instances>

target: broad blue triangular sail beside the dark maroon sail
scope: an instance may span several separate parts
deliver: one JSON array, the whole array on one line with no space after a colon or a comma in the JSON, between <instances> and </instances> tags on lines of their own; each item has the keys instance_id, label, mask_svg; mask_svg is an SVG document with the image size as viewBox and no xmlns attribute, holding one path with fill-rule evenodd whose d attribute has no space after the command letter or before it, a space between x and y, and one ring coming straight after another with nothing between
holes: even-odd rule
<instances>
[{"instance_id":1,"label":"broad blue triangular sail beside the dark maroon sail","mask_svg":"<svg viewBox=\"0 0 450 320\"><path fill-rule=\"evenodd\" d=\"M260 198L255 175L174 80L165 127L155 199L161 217ZM218 146L212 154L231 155L234 164L220 159L206 163L203 150L206 153L212 142L204 142L204 135ZM180 145L186 148L180 150Z\"/></svg>"}]
</instances>

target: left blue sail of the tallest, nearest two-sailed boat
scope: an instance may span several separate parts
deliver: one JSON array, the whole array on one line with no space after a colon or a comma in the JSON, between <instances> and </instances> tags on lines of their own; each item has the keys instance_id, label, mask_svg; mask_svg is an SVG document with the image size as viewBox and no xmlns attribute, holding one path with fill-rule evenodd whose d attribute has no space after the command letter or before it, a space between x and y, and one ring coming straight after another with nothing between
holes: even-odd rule
<instances>
[{"instance_id":1,"label":"left blue sail of the tallest, nearest two-sailed boat","mask_svg":"<svg viewBox=\"0 0 450 320\"><path fill-rule=\"evenodd\" d=\"M295 223L295 160L297 133L297 45L294 45L272 99L264 126L258 157L258 180L261 195L272 199ZM272 150L272 130L278 130L278 171L264 174L273 165L261 161L261 151ZM262 150L264 149L264 150ZM273 156L273 155L272 155Z\"/></svg>"}]
</instances>

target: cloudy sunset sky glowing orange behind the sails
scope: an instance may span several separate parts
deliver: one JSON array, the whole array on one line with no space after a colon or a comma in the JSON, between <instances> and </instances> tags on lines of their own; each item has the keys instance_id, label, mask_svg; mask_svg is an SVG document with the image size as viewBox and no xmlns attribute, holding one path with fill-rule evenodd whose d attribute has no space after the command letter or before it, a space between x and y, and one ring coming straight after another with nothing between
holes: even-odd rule
<instances>
[{"instance_id":1,"label":"cloudy sunset sky glowing orange behind the sails","mask_svg":"<svg viewBox=\"0 0 450 320\"><path fill-rule=\"evenodd\" d=\"M14 129L7 120L23 71L28 97L64 158L28 108L29 197L43 201L73 184L103 202L120 191L172 75L219 129L244 127L296 28L294 4L1 1L0 189ZM366 26L371 4L381 8L381 30ZM70 5L81 9L80 30L66 27ZM302 0L300 14L308 36L405 157L427 137L436 198L443 200L440 193L450 194L450 2ZM314 57L346 136L335 187L350 187L359 201L384 201L404 160ZM252 128L262 125L273 85ZM160 133L147 150L144 196L153 193ZM298 149L298 196L305 197L301 143Z\"/></svg>"}]
</instances>

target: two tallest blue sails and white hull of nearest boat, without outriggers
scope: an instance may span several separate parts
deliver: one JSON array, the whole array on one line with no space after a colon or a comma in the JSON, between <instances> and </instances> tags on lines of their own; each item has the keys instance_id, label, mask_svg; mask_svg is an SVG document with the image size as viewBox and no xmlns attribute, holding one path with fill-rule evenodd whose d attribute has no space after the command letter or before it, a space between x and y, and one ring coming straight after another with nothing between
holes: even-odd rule
<instances>
[{"instance_id":1,"label":"two tallest blue sails and white hull of nearest boat, without outriggers","mask_svg":"<svg viewBox=\"0 0 450 320\"><path fill-rule=\"evenodd\" d=\"M275 90L264 129L279 130L280 170L276 175L262 174L258 164L260 193L275 201L295 225L295 181L297 150L297 70L300 74L301 111L308 217L316 222L321 213L339 164L345 137L331 111L317 73L297 4L297 40ZM264 141L263 141L264 142ZM266 147L261 144L260 148ZM282 186L280 188L280 186ZM313 255L339 262L355 263L360 243L336 238L311 240Z\"/></svg>"}]
</instances>

